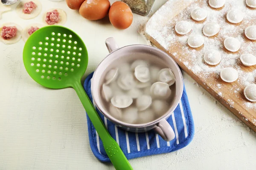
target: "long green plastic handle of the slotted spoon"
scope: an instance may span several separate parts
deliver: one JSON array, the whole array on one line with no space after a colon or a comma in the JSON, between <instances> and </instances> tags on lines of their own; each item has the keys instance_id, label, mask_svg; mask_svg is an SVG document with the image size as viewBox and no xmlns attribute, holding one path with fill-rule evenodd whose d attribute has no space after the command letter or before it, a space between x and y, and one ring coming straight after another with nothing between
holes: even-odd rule
<instances>
[{"instance_id":1,"label":"long green plastic handle of the slotted spoon","mask_svg":"<svg viewBox=\"0 0 256 170\"><path fill-rule=\"evenodd\" d=\"M81 85L81 82L75 82L73 88L76 90L76 93L78 94L79 99L81 100L87 115L93 123L93 126L99 134L100 139L102 139L104 149L108 154L108 157L111 160L115 169L133 170L119 145L108 133L107 128L100 119L98 113L93 107L93 104L90 102L89 97L85 93L84 88Z\"/></svg>"}]
</instances>

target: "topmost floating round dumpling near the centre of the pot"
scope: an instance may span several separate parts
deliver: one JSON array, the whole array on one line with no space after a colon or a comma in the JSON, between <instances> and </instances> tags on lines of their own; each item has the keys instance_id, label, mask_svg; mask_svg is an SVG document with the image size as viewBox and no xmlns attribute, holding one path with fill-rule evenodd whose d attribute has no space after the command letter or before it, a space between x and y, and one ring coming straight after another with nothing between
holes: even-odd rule
<instances>
[{"instance_id":1,"label":"topmost floating round dumpling near the centre of the pot","mask_svg":"<svg viewBox=\"0 0 256 170\"><path fill-rule=\"evenodd\" d=\"M148 67L144 65L138 65L134 70L134 76L140 82L148 82L150 80Z\"/></svg>"}]
</instances>

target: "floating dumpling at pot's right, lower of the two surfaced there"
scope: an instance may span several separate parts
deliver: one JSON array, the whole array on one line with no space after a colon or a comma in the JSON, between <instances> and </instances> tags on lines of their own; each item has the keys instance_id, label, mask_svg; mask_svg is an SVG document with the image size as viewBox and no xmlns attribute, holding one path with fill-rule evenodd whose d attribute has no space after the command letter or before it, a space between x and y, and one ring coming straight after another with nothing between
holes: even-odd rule
<instances>
[{"instance_id":1,"label":"floating dumpling at pot's right, lower of the two surfaced there","mask_svg":"<svg viewBox=\"0 0 256 170\"><path fill-rule=\"evenodd\" d=\"M151 96L156 99L167 99L172 91L165 82L155 82L150 88Z\"/></svg>"}]
</instances>

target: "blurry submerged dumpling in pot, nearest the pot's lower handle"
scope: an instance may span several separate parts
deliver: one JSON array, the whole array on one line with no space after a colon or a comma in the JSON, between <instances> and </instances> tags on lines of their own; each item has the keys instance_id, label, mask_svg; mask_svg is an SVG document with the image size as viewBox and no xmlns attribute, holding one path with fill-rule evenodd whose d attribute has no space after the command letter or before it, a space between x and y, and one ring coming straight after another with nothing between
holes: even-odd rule
<instances>
[{"instance_id":1,"label":"blurry submerged dumpling in pot, nearest the pot's lower handle","mask_svg":"<svg viewBox=\"0 0 256 170\"><path fill-rule=\"evenodd\" d=\"M157 117L163 116L169 109L169 104L165 100L154 100L152 109Z\"/></svg>"}]
</instances>

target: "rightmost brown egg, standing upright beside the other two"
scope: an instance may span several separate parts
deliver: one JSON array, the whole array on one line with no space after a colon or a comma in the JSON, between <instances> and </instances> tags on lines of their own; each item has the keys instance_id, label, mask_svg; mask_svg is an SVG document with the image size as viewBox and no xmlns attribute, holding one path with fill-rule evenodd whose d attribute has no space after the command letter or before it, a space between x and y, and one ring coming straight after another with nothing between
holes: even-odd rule
<instances>
[{"instance_id":1,"label":"rightmost brown egg, standing upright beside the other two","mask_svg":"<svg viewBox=\"0 0 256 170\"><path fill-rule=\"evenodd\" d=\"M131 26L133 14L131 8L124 2L113 3L108 15L111 24L118 29L126 29Z\"/></svg>"}]
</instances>

